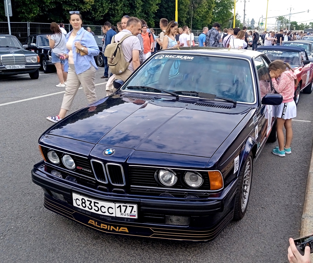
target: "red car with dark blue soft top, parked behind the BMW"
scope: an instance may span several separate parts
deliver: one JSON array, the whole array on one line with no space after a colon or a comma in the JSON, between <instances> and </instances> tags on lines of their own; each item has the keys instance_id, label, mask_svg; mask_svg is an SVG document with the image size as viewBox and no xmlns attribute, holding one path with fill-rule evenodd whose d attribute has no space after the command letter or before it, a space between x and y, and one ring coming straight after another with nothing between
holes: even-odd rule
<instances>
[{"instance_id":1,"label":"red car with dark blue soft top, parked behind the BMW","mask_svg":"<svg viewBox=\"0 0 313 263\"><path fill-rule=\"evenodd\" d=\"M294 69L299 84L295 86L295 103L298 104L300 91L310 94L313 89L313 63L305 49L293 46L261 46L256 50L263 52L271 61L284 60Z\"/></svg>"}]
</instances>

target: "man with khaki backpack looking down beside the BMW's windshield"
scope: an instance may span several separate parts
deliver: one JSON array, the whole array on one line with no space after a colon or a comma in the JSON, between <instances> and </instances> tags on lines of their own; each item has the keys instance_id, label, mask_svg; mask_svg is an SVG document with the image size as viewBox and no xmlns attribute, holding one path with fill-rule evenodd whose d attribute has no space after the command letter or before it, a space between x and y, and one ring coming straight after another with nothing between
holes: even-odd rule
<instances>
[{"instance_id":1,"label":"man with khaki backpack looking down beside the BMW's windshield","mask_svg":"<svg viewBox=\"0 0 313 263\"><path fill-rule=\"evenodd\" d=\"M105 48L110 71L115 79L126 81L140 65L139 51L141 45L137 34L141 33L141 22L136 17L128 19L126 29L114 35L111 44Z\"/></svg>"}]
</instances>

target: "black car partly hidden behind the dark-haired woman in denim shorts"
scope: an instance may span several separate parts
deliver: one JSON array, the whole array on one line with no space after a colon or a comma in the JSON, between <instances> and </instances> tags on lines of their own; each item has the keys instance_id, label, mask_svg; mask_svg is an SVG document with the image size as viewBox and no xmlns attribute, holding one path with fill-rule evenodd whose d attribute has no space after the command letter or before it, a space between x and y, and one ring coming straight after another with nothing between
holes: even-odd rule
<instances>
[{"instance_id":1,"label":"black car partly hidden behind the dark-haired woman in denim shorts","mask_svg":"<svg viewBox=\"0 0 313 263\"><path fill-rule=\"evenodd\" d=\"M55 66L51 60L51 48L49 47L47 34L29 35L24 47L27 50L35 52L39 56L41 68L44 73L50 73L51 71L55 71Z\"/></svg>"}]
</instances>

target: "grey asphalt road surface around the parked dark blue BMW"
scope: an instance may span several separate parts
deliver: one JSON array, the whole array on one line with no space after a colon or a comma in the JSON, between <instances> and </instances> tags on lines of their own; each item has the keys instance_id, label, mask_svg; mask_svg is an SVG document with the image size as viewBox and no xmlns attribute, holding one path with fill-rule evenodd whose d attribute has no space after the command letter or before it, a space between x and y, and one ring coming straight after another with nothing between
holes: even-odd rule
<instances>
[{"instance_id":1,"label":"grey asphalt road surface around the parked dark blue BMW","mask_svg":"<svg viewBox=\"0 0 313 263\"><path fill-rule=\"evenodd\" d=\"M313 94L300 94L293 121L292 154L275 156L266 144L253 168L245 217L230 223L209 243L181 243L98 233L43 206L43 191L31 181L33 164L42 160L39 136L51 125L46 116L59 112L63 93L38 97L55 87L56 74L0 79L0 262L287 262L288 238L299 237L312 147ZM97 71L96 83L103 68ZM98 98L105 84L96 87ZM36 99L13 104L3 103ZM85 106L82 90L73 111ZM309 122L307 122L309 121ZM312 122L311 122L312 121Z\"/></svg>"}]
</instances>

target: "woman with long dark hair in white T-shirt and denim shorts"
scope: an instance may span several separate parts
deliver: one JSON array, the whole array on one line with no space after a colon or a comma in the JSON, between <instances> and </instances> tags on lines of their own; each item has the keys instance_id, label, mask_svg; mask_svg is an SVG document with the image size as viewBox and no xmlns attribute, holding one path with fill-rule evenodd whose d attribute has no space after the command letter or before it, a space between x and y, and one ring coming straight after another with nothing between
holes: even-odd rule
<instances>
[{"instance_id":1,"label":"woman with long dark hair in white T-shirt and denim shorts","mask_svg":"<svg viewBox=\"0 0 313 263\"><path fill-rule=\"evenodd\" d=\"M49 39L49 46L52 48L52 63L54 63L54 66L57 69L57 75L60 81L56 87L65 87L67 72L64 72L64 60L60 59L60 55L65 52L65 36L62 34L60 27L55 22L51 23L50 29L52 31L52 35L47 35L47 39Z\"/></svg>"}]
</instances>

